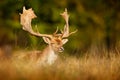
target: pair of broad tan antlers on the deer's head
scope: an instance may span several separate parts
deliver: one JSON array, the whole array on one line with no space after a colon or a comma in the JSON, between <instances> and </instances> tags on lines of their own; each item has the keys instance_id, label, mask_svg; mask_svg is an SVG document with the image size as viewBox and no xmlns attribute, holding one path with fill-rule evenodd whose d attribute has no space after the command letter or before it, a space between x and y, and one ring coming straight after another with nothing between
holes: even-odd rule
<instances>
[{"instance_id":1,"label":"pair of broad tan antlers on the deer's head","mask_svg":"<svg viewBox=\"0 0 120 80\"><path fill-rule=\"evenodd\" d=\"M34 36L47 37L49 39L53 39L54 35L58 35L61 38L65 38L65 37L68 37L71 34L75 33L77 30L69 33L69 24L68 24L69 15L67 13L67 9L65 9L65 11L61 14L61 16L64 18L66 24L65 24L63 32L60 35L57 34L58 28L53 35L41 34L41 33L38 33L38 32L34 32L33 29L32 29L32 26L31 26L31 21L32 21L32 19L36 18L37 16L35 15L32 8L26 10L25 7L23 7L23 13L20 14L20 22L21 22L21 25L22 25L22 29L25 30L25 31L28 31L29 33L31 33Z\"/></svg>"}]
</instances>

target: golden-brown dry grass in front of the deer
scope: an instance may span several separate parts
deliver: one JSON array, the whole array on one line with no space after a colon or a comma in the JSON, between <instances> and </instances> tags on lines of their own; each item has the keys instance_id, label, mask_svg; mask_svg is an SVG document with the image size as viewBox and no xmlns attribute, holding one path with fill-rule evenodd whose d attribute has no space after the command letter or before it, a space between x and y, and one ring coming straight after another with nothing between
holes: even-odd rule
<instances>
[{"instance_id":1,"label":"golden-brown dry grass in front of the deer","mask_svg":"<svg viewBox=\"0 0 120 80\"><path fill-rule=\"evenodd\" d=\"M19 52L19 51L18 51ZM25 53L25 51L23 52ZM63 55L62 55L63 56ZM11 56L0 61L0 80L119 80L120 55L64 56L53 65L37 66Z\"/></svg>"}]
</instances>

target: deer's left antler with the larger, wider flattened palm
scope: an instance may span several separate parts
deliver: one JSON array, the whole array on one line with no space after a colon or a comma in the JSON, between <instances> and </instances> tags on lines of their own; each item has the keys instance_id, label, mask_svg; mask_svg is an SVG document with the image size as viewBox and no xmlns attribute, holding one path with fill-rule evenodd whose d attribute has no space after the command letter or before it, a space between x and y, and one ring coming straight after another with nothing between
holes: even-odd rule
<instances>
[{"instance_id":1,"label":"deer's left antler with the larger, wider flattened palm","mask_svg":"<svg viewBox=\"0 0 120 80\"><path fill-rule=\"evenodd\" d=\"M52 35L40 34L38 32L33 31L32 26L31 26L31 21L32 21L32 19L34 19L36 17L37 16L35 15L32 8L26 10L25 7L23 7L23 13L20 14L20 22L21 22L21 25L23 26L22 27L23 30L28 31L29 33L31 33L34 36L52 38Z\"/></svg>"}]
</instances>

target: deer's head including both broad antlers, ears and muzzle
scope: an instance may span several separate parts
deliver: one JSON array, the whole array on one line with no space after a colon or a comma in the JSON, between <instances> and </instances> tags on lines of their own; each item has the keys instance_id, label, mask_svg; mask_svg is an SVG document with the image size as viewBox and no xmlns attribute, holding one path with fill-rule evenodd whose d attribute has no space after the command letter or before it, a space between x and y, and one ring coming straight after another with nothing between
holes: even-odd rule
<instances>
[{"instance_id":1,"label":"deer's head including both broad antlers, ears and muzzle","mask_svg":"<svg viewBox=\"0 0 120 80\"><path fill-rule=\"evenodd\" d=\"M65 9L65 11L60 15L63 17L63 19L66 22L64 26L64 30L61 31L60 34L57 33L58 28L53 34L41 34L39 32L33 31L31 26L31 21L37 16L34 14L32 8L26 10L25 7L23 7L23 13L20 14L20 22L23 30L29 32L34 36L42 37L43 40L48 45L50 45L55 52L62 52L64 50L62 46L68 41L67 37L75 33L77 30L71 33L69 32L69 24L68 24L69 15L67 13L67 9Z\"/></svg>"}]
</instances>

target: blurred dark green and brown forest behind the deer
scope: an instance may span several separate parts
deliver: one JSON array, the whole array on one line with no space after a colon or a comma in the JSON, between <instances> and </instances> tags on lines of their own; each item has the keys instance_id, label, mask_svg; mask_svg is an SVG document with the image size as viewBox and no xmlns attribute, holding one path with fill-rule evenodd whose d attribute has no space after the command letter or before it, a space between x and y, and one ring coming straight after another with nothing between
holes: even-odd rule
<instances>
[{"instance_id":1,"label":"blurred dark green and brown forest behind the deer","mask_svg":"<svg viewBox=\"0 0 120 80\"><path fill-rule=\"evenodd\" d=\"M70 31L78 29L64 46L66 53L82 54L89 49L97 51L120 49L120 0L0 0L0 47L12 49L43 49L42 38L22 30L19 13L23 6L37 15L33 27L52 34L57 26L63 29L60 13L65 8L70 14Z\"/></svg>"}]
</instances>

